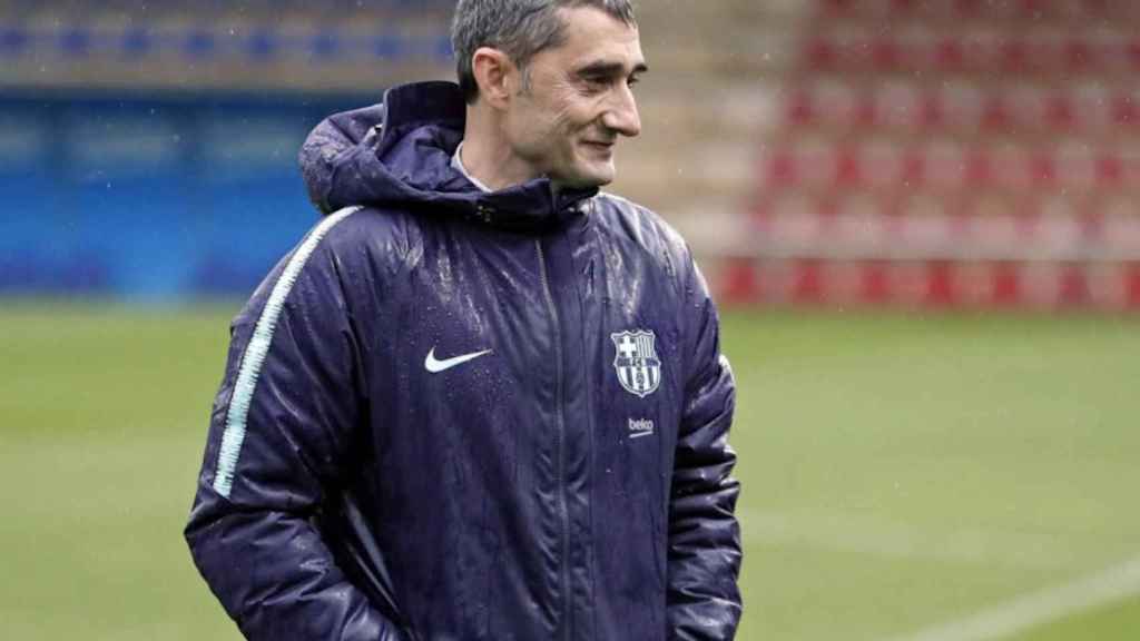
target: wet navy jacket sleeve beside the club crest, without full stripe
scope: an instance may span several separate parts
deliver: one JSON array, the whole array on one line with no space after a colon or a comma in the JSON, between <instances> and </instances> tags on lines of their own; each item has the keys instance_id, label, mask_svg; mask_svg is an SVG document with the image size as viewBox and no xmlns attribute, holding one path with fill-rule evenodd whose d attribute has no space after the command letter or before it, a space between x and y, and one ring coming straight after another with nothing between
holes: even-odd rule
<instances>
[{"instance_id":1,"label":"wet navy jacket sleeve beside the club crest, without full stripe","mask_svg":"<svg viewBox=\"0 0 1140 641\"><path fill-rule=\"evenodd\" d=\"M730 477L735 387L720 355L716 308L692 267L690 364L673 470L668 543L670 640L732 639L741 615L740 484ZM695 299L695 300L693 300Z\"/></svg>"}]
</instances>

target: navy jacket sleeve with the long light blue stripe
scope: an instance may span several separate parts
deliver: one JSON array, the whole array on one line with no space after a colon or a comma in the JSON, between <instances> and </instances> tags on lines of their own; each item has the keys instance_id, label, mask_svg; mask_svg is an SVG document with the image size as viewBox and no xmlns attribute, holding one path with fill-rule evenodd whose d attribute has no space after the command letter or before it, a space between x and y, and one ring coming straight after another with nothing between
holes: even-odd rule
<instances>
[{"instance_id":1,"label":"navy jacket sleeve with the long light blue stripe","mask_svg":"<svg viewBox=\"0 0 1140 641\"><path fill-rule=\"evenodd\" d=\"M314 525L361 413L336 261L309 245L331 222L234 322L185 532L202 576L254 641L405 639L348 581Z\"/></svg>"}]
</instances>

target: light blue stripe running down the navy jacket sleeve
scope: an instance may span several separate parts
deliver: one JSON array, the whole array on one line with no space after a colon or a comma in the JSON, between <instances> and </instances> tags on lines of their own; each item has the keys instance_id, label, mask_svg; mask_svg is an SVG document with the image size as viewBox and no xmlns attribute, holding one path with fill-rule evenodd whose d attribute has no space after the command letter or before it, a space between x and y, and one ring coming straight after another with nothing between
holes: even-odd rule
<instances>
[{"instance_id":1,"label":"light blue stripe running down the navy jacket sleeve","mask_svg":"<svg viewBox=\"0 0 1140 641\"><path fill-rule=\"evenodd\" d=\"M309 260L320 240L328 234L337 222L344 220L361 208L342 209L341 211L325 218L317 225L312 233L301 243L301 246L293 252L285 269L282 271L274 290L269 293L264 309L258 318L258 324L253 328L253 338L245 347L242 356L242 366L237 372L237 381L234 383L234 395L230 397L229 409L226 413L226 431L221 437L221 451L218 453L218 470L214 473L214 492L229 498L229 493L234 488L234 474L237 471L237 460L242 454L242 441L245 440L246 420L250 415L250 403L253 400L253 392L258 387L258 378L261 375L261 366L269 354L269 344L274 340L274 331L277 328L277 319L280 316L285 299L296 284L296 278L301 269Z\"/></svg>"}]
</instances>

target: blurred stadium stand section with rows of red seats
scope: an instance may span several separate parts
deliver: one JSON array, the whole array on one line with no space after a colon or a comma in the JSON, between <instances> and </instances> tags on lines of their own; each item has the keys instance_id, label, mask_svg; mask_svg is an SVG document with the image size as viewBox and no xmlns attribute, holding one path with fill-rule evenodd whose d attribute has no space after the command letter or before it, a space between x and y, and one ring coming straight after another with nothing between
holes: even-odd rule
<instances>
[{"instance_id":1,"label":"blurred stadium stand section with rows of red seats","mask_svg":"<svg viewBox=\"0 0 1140 641\"><path fill-rule=\"evenodd\" d=\"M734 301L1140 306L1140 8L820 0Z\"/></svg>"}]
</instances>

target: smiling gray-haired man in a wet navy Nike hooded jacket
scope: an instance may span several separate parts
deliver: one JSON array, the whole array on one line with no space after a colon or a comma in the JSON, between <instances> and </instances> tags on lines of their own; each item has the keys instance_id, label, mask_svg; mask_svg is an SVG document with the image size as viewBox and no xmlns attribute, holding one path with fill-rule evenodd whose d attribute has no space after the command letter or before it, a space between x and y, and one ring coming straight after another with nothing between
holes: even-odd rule
<instances>
[{"instance_id":1,"label":"smiling gray-haired man in a wet navy Nike hooded jacket","mask_svg":"<svg viewBox=\"0 0 1140 641\"><path fill-rule=\"evenodd\" d=\"M731 639L716 311L597 192L641 129L633 10L461 0L454 43L459 87L306 143L334 213L234 322L194 559L250 639Z\"/></svg>"}]
</instances>

